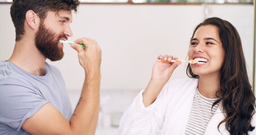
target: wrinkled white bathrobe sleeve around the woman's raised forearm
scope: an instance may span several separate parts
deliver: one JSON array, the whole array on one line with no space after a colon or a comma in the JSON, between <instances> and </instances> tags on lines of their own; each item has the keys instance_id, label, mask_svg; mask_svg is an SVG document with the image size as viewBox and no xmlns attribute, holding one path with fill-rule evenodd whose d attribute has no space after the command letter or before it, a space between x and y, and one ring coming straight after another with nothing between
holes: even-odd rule
<instances>
[{"instance_id":1,"label":"wrinkled white bathrobe sleeve around the woman's raised forearm","mask_svg":"<svg viewBox=\"0 0 256 135\"><path fill-rule=\"evenodd\" d=\"M167 109L167 97L170 94L169 84L166 84L156 100L145 107L142 93L134 98L131 106L125 111L119 126L119 134L160 134L164 122L165 110Z\"/></svg>"}]
</instances>

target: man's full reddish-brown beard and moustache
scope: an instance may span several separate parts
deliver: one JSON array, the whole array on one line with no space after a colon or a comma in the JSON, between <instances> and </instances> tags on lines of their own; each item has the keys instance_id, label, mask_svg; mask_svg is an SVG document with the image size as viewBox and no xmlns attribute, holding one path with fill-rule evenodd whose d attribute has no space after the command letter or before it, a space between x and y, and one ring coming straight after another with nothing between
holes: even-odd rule
<instances>
[{"instance_id":1,"label":"man's full reddish-brown beard and moustache","mask_svg":"<svg viewBox=\"0 0 256 135\"><path fill-rule=\"evenodd\" d=\"M64 56L63 48L58 47L61 38L68 39L65 34L58 36L41 22L35 35L35 46L49 60L58 61Z\"/></svg>"}]
</instances>

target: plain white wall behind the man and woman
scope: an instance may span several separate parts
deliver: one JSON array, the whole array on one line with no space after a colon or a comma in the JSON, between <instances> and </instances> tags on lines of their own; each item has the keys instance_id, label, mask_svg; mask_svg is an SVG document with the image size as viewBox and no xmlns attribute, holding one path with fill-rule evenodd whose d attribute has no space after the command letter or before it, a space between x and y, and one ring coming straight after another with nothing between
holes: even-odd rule
<instances>
[{"instance_id":1,"label":"plain white wall behind the man and woman","mask_svg":"<svg viewBox=\"0 0 256 135\"><path fill-rule=\"evenodd\" d=\"M252 71L253 6L225 5L125 5L82 4L73 15L71 29L75 40L96 39L102 48L101 90L138 90L145 88L151 77L156 57L168 54L187 59L192 31L204 17L219 16L233 23L244 43L248 67ZM0 4L0 60L7 60L14 48L15 29L10 17L10 4ZM62 72L69 90L79 90L84 73L77 53L64 47L64 59L52 62ZM183 64L173 74L186 78ZM251 73L250 73L251 74Z\"/></svg>"}]
</instances>

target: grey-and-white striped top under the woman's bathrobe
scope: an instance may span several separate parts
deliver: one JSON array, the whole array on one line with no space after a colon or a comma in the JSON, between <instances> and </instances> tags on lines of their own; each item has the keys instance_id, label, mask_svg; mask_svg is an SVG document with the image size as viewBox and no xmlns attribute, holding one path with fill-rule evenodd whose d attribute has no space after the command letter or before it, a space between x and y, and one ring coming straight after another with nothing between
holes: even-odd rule
<instances>
[{"instance_id":1,"label":"grey-and-white striped top under the woman's bathrobe","mask_svg":"<svg viewBox=\"0 0 256 135\"><path fill-rule=\"evenodd\" d=\"M196 89L185 134L204 134L210 119L219 106L218 103L217 105L213 106L212 109L213 102L217 100L218 98L204 97L200 94L198 89Z\"/></svg>"}]
</instances>

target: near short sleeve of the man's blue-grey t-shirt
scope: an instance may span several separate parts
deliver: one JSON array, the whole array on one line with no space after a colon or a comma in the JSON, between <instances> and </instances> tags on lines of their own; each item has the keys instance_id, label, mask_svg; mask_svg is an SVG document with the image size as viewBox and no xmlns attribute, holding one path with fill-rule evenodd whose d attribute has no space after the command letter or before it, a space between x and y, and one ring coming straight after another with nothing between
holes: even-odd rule
<instances>
[{"instance_id":1,"label":"near short sleeve of the man's blue-grey t-shirt","mask_svg":"<svg viewBox=\"0 0 256 135\"><path fill-rule=\"evenodd\" d=\"M28 84L10 78L0 81L0 123L17 131L47 102L36 88Z\"/></svg>"}]
</instances>

